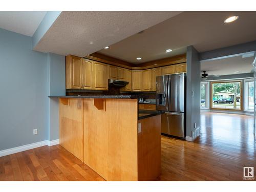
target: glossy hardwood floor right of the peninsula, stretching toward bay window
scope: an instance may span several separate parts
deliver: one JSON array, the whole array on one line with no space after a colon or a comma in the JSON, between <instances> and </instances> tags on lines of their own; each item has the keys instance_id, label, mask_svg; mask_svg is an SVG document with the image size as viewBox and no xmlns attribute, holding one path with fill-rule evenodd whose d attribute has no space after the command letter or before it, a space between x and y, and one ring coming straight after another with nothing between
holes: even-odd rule
<instances>
[{"instance_id":1,"label":"glossy hardwood floor right of the peninsula, stretching toward bay window","mask_svg":"<svg viewBox=\"0 0 256 192\"><path fill-rule=\"evenodd\" d=\"M256 168L251 116L202 113L194 142L162 137L159 180L240 181L244 166Z\"/></svg>"}]
</instances>

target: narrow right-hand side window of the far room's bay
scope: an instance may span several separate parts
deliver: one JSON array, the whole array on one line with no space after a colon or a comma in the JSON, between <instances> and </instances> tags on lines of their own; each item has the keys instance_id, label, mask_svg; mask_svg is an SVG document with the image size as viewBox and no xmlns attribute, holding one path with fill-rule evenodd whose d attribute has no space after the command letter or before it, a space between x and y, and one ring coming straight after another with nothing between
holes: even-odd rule
<instances>
[{"instance_id":1,"label":"narrow right-hand side window of the far room's bay","mask_svg":"<svg viewBox=\"0 0 256 192\"><path fill-rule=\"evenodd\" d=\"M245 80L245 111L254 110L254 82L253 79Z\"/></svg>"}]
</instances>

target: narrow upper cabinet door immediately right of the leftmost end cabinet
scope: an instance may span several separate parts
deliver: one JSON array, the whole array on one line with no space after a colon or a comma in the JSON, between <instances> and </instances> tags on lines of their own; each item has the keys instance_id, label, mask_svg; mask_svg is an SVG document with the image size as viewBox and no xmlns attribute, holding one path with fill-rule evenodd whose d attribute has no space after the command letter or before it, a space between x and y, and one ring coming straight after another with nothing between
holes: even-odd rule
<instances>
[{"instance_id":1,"label":"narrow upper cabinet door immediately right of the leftmost end cabinet","mask_svg":"<svg viewBox=\"0 0 256 192\"><path fill-rule=\"evenodd\" d=\"M82 88L93 89L93 61L82 60Z\"/></svg>"}]
</instances>

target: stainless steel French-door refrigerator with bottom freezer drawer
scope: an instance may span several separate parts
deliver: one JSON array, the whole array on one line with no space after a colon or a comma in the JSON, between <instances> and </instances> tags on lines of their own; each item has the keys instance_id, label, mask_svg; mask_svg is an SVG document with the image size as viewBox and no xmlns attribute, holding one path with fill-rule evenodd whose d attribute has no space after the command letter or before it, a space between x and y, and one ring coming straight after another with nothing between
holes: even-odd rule
<instances>
[{"instance_id":1,"label":"stainless steel French-door refrigerator with bottom freezer drawer","mask_svg":"<svg viewBox=\"0 0 256 192\"><path fill-rule=\"evenodd\" d=\"M162 114L162 133L185 138L186 73L156 77L156 110Z\"/></svg>"}]
</instances>

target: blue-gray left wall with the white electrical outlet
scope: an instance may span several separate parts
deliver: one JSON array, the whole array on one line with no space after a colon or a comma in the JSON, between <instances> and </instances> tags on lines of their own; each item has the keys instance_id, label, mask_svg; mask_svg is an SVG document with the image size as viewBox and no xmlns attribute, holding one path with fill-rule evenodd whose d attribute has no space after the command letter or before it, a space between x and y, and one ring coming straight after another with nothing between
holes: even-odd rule
<instances>
[{"instance_id":1,"label":"blue-gray left wall with the white electrical outlet","mask_svg":"<svg viewBox=\"0 0 256 192\"><path fill-rule=\"evenodd\" d=\"M0 151L47 140L47 54L32 37L0 29ZM38 134L33 135L33 129Z\"/></svg>"}]
</instances>

